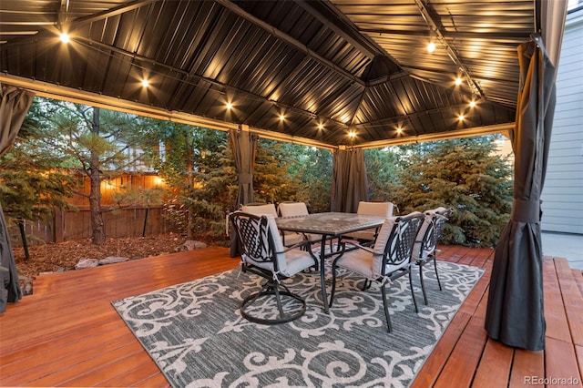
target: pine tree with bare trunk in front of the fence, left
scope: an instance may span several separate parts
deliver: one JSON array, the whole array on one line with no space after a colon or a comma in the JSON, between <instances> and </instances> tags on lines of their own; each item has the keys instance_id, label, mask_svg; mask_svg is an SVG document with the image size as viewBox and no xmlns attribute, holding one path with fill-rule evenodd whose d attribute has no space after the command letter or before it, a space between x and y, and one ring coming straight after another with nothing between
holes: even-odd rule
<instances>
[{"instance_id":1,"label":"pine tree with bare trunk in front of the fence, left","mask_svg":"<svg viewBox=\"0 0 583 388\"><path fill-rule=\"evenodd\" d=\"M141 158L128 152L148 146L141 120L134 115L49 99L39 99L39 107L46 120L46 126L40 128L41 146L90 181L89 194L77 194L89 201L92 242L103 244L106 234L102 214L111 209L101 206L101 181L115 178Z\"/></svg>"}]
</instances>

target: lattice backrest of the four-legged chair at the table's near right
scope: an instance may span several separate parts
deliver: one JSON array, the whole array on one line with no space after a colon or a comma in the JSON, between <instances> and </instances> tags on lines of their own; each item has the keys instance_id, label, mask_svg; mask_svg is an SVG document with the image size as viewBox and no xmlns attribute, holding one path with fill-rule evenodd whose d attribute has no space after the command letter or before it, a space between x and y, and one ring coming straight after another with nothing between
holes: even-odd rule
<instances>
[{"instance_id":1,"label":"lattice backrest of the four-legged chair at the table's near right","mask_svg":"<svg viewBox=\"0 0 583 388\"><path fill-rule=\"evenodd\" d=\"M424 222L424 214L415 211L384 220L373 248L373 274L384 276L387 265L401 266L412 260L415 237Z\"/></svg>"}]
</instances>

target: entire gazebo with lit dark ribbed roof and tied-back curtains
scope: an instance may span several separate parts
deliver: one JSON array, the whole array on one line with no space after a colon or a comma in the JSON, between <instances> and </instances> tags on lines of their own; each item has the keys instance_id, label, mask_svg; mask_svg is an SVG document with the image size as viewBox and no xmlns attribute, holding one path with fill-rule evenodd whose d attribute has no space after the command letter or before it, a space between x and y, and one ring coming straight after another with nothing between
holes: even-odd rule
<instances>
[{"instance_id":1,"label":"entire gazebo with lit dark ribbed roof and tied-back curtains","mask_svg":"<svg viewBox=\"0 0 583 388\"><path fill-rule=\"evenodd\" d=\"M227 130L246 202L252 169L243 166L256 137L330 148L340 177L363 163L364 148L506 134L515 202L486 330L541 349L538 197L566 8L565 0L3 1L0 150L33 95ZM343 200L354 190L348 180L335 179L332 209L355 210L358 198ZM14 281L0 273L6 286ZM8 287L0 301L17 293Z\"/></svg>"}]
</instances>

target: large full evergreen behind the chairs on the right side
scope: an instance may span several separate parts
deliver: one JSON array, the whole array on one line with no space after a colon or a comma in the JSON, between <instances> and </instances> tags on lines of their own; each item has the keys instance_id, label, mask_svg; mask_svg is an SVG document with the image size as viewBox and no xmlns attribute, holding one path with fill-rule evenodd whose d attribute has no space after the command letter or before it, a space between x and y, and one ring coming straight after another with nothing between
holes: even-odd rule
<instances>
[{"instance_id":1,"label":"large full evergreen behind the chairs on the right side","mask_svg":"<svg viewBox=\"0 0 583 388\"><path fill-rule=\"evenodd\" d=\"M401 213L451 207L444 242L494 247L512 207L512 170L494 140L445 140L413 152L393 196Z\"/></svg>"}]
</instances>

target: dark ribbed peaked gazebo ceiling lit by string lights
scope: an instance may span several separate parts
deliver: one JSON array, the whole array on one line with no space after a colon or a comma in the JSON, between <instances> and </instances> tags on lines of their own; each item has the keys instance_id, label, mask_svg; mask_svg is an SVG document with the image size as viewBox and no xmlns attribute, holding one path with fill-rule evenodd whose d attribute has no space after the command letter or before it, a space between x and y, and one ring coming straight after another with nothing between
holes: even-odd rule
<instances>
[{"instance_id":1,"label":"dark ribbed peaked gazebo ceiling lit by string lights","mask_svg":"<svg viewBox=\"0 0 583 388\"><path fill-rule=\"evenodd\" d=\"M517 46L540 29L537 6L2 0L0 82L331 148L490 133L515 120Z\"/></svg>"}]
</instances>

